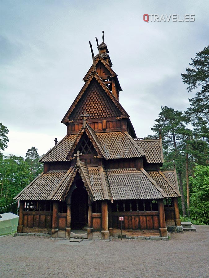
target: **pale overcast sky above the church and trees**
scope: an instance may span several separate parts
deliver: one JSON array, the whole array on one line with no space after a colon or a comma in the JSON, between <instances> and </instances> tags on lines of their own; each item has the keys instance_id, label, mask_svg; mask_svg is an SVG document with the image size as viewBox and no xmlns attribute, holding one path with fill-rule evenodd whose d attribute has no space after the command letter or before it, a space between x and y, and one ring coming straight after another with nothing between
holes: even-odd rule
<instances>
[{"instance_id":1,"label":"pale overcast sky above the church and trees","mask_svg":"<svg viewBox=\"0 0 209 278\"><path fill-rule=\"evenodd\" d=\"M160 106L185 111L181 73L208 44L207 0L0 2L0 122L9 129L5 155L40 155L66 135L63 116L92 64L91 40L104 30L113 70L123 91L119 101L138 137L151 134ZM144 22L144 14L194 22Z\"/></svg>"}]
</instances>

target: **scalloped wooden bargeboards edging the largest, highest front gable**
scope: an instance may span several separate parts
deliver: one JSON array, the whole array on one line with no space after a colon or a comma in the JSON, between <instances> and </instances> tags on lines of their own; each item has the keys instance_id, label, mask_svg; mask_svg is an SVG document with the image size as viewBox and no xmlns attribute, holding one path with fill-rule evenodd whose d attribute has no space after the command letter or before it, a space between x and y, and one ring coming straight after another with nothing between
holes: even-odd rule
<instances>
[{"instance_id":1,"label":"scalloped wooden bargeboards edging the largest, highest front gable","mask_svg":"<svg viewBox=\"0 0 209 278\"><path fill-rule=\"evenodd\" d=\"M87 81L85 82L83 88L81 89L81 91L79 92L79 94L77 95L76 99L74 100L74 102L72 103L71 107L68 109L67 113L65 114L63 120L61 121L62 123L66 123L68 122L68 118L69 116L72 114L72 111L74 110L74 108L76 107L76 105L78 104L79 100L81 99L81 97L84 95L86 89L88 88L90 82L92 80L96 80L98 82L98 84L102 87L102 89L105 91L105 93L109 96L109 98L111 99L111 101L114 103L115 107L117 107L117 109L120 112L120 116L129 118L128 113L125 111L125 109L121 106L121 104L118 102L118 100L114 97L114 95L111 93L111 91L107 88L107 86L105 85L105 83L102 81L102 79L98 76L97 73L92 72L89 76L89 78L87 79ZM103 104L104 105L104 104ZM85 108L87 109L87 108ZM98 110L98 109L97 109ZM82 112L83 113L83 112ZM90 114L89 111L87 111L87 113ZM92 115L90 115L91 117ZM108 116L107 116L108 117Z\"/></svg>"}]
</instances>

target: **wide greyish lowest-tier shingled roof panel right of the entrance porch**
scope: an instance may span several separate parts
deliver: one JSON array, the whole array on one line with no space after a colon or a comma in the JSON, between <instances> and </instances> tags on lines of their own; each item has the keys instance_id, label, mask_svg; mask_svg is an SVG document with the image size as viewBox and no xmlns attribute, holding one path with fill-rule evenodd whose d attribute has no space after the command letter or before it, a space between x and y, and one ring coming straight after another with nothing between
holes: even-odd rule
<instances>
[{"instance_id":1,"label":"wide greyish lowest-tier shingled roof panel right of the entrance porch","mask_svg":"<svg viewBox=\"0 0 209 278\"><path fill-rule=\"evenodd\" d=\"M114 200L162 199L168 197L141 168L108 169L107 177Z\"/></svg>"}]
</instances>

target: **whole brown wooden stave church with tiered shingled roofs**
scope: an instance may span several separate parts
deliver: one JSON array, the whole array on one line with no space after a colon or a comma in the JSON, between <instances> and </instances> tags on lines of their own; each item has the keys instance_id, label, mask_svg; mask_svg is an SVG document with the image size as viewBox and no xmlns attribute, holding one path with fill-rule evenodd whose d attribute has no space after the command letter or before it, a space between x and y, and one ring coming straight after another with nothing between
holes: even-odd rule
<instances>
[{"instance_id":1,"label":"whole brown wooden stave church with tiered shingled roofs","mask_svg":"<svg viewBox=\"0 0 209 278\"><path fill-rule=\"evenodd\" d=\"M97 40L97 39L96 39ZM97 41L98 45L98 41ZM175 169L161 171L162 139L137 138L119 103L122 91L107 45L83 78L65 114L67 135L41 159L44 171L14 199L20 200L19 233L89 239L168 236L181 226Z\"/></svg>"}]
</instances>

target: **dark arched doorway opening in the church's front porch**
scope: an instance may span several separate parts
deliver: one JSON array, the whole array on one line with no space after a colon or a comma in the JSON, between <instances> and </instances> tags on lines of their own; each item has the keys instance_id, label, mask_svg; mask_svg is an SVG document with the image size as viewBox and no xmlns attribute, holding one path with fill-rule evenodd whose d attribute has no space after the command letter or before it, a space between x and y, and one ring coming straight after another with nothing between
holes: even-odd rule
<instances>
[{"instance_id":1,"label":"dark arched doorway opening in the church's front porch","mask_svg":"<svg viewBox=\"0 0 209 278\"><path fill-rule=\"evenodd\" d=\"M82 229L88 226L88 193L81 179L77 179L75 185L71 199L71 228Z\"/></svg>"}]
</instances>

